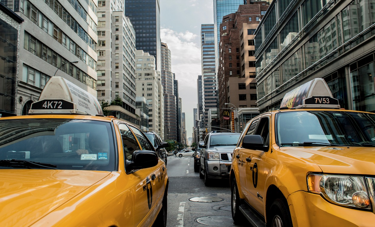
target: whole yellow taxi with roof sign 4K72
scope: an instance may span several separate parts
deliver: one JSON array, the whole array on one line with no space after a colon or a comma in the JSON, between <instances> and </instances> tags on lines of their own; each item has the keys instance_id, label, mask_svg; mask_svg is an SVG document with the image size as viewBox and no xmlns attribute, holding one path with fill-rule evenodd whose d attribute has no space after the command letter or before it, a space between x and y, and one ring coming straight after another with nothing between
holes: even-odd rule
<instances>
[{"instance_id":1,"label":"whole yellow taxi with roof sign 4K72","mask_svg":"<svg viewBox=\"0 0 375 227\"><path fill-rule=\"evenodd\" d=\"M147 137L62 77L0 118L1 227L165 227L167 191Z\"/></svg>"}]
</instances>

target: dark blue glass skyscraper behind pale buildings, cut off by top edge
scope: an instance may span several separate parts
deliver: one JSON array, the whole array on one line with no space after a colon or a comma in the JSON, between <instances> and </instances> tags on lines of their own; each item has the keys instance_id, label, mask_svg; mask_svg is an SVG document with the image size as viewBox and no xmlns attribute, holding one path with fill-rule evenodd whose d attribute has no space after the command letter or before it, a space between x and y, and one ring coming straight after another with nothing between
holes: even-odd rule
<instances>
[{"instance_id":1,"label":"dark blue glass skyscraper behind pale buildings, cut off by top edge","mask_svg":"<svg viewBox=\"0 0 375 227\"><path fill-rule=\"evenodd\" d=\"M160 71L160 0L124 0L125 15L136 33L136 49L154 55Z\"/></svg>"}]
</instances>

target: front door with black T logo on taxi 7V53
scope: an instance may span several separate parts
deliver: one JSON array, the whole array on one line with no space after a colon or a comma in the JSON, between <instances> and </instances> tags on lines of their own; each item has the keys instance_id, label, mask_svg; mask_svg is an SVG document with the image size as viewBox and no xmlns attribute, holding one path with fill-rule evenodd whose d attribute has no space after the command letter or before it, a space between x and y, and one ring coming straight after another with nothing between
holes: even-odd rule
<instances>
[{"instance_id":1,"label":"front door with black T logo on taxi 7V53","mask_svg":"<svg viewBox=\"0 0 375 227\"><path fill-rule=\"evenodd\" d=\"M264 145L270 147L270 115L263 115L256 126L255 133L252 135L261 135ZM266 154L269 151L244 149L246 165L246 188L249 193L249 203L260 214L264 215L264 203L266 191L264 189L267 174L264 172L266 164Z\"/></svg>"}]
</instances>

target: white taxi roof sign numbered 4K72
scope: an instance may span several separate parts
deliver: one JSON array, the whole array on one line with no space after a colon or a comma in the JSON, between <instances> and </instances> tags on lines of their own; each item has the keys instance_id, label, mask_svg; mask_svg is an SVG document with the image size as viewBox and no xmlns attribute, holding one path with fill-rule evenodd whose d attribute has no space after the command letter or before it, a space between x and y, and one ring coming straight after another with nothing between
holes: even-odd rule
<instances>
[{"instance_id":1,"label":"white taxi roof sign numbered 4K72","mask_svg":"<svg viewBox=\"0 0 375 227\"><path fill-rule=\"evenodd\" d=\"M31 104L29 114L84 114L103 115L95 96L74 83L59 77L51 77L37 102Z\"/></svg>"}]
</instances>

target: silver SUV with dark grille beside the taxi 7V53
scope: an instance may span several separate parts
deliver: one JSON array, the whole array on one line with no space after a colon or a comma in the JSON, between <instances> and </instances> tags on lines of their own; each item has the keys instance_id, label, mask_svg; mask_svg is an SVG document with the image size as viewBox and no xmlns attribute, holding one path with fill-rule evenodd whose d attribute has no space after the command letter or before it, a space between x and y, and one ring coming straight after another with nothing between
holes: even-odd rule
<instances>
[{"instance_id":1,"label":"silver SUV with dark grille beside the taxi 7V53","mask_svg":"<svg viewBox=\"0 0 375 227\"><path fill-rule=\"evenodd\" d=\"M212 179L229 179L232 153L237 145L240 133L210 132L204 138L201 149L199 177L206 186Z\"/></svg>"}]
</instances>

